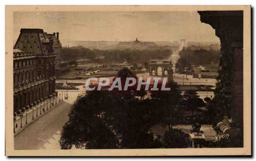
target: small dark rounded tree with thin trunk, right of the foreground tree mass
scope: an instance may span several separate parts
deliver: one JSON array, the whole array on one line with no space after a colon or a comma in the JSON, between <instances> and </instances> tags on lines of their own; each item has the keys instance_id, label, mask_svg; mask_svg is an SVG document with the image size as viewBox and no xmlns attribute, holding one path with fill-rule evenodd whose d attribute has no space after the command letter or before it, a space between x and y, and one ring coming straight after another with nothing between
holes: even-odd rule
<instances>
[{"instance_id":1,"label":"small dark rounded tree with thin trunk, right of the foreground tree mass","mask_svg":"<svg viewBox=\"0 0 256 161\"><path fill-rule=\"evenodd\" d=\"M186 90L183 95L182 104L192 112L192 117L194 118L194 111L197 107L204 106L204 101L199 98L196 90Z\"/></svg>"}]
</instances>

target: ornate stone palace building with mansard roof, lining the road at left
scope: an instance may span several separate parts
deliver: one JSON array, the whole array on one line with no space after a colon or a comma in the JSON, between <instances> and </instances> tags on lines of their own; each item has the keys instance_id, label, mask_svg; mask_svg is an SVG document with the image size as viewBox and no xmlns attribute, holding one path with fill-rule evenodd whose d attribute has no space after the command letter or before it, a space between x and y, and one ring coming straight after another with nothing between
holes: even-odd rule
<instances>
[{"instance_id":1,"label":"ornate stone palace building with mansard roof, lining the road at left","mask_svg":"<svg viewBox=\"0 0 256 161\"><path fill-rule=\"evenodd\" d=\"M13 49L13 111L55 95L54 40L42 29L21 29Z\"/></svg>"}]
</instances>

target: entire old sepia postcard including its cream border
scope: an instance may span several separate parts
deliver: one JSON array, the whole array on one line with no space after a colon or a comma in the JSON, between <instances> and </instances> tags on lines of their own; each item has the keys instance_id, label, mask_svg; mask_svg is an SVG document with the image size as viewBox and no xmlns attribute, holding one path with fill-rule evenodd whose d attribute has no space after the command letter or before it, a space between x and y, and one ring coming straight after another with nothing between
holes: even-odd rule
<instances>
[{"instance_id":1,"label":"entire old sepia postcard including its cream border","mask_svg":"<svg viewBox=\"0 0 256 161\"><path fill-rule=\"evenodd\" d=\"M251 6L6 6L7 156L251 155Z\"/></svg>"}]
</instances>

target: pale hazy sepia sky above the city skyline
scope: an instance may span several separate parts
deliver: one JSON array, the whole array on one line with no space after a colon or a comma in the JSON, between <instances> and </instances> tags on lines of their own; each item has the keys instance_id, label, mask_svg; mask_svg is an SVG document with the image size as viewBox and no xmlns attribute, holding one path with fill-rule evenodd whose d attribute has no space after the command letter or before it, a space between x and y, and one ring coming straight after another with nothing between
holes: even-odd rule
<instances>
[{"instance_id":1,"label":"pale hazy sepia sky above the city skyline","mask_svg":"<svg viewBox=\"0 0 256 161\"><path fill-rule=\"evenodd\" d=\"M14 12L14 41L20 28L60 33L60 41L187 41L219 42L214 29L196 11ZM62 45L65 45L62 43Z\"/></svg>"}]
</instances>

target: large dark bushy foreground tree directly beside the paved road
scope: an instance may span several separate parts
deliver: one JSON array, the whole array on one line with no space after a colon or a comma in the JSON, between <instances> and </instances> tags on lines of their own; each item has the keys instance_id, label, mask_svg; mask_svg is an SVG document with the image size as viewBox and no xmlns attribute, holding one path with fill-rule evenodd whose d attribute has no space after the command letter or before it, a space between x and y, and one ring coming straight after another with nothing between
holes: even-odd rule
<instances>
[{"instance_id":1,"label":"large dark bushy foreground tree directly beside the paved road","mask_svg":"<svg viewBox=\"0 0 256 161\"><path fill-rule=\"evenodd\" d=\"M61 149L71 149L72 146L80 149L118 148L115 130L107 117L112 105L107 90L79 95L61 131Z\"/></svg>"}]
</instances>

